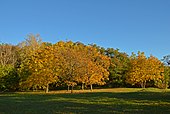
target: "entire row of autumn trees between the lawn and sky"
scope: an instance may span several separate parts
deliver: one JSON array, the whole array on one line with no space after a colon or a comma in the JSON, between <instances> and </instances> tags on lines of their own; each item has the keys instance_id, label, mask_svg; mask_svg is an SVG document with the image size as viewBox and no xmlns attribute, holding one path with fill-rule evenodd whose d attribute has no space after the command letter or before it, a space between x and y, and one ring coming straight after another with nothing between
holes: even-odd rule
<instances>
[{"instance_id":1,"label":"entire row of autumn trees between the lawn and sky","mask_svg":"<svg viewBox=\"0 0 170 114\"><path fill-rule=\"evenodd\" d=\"M169 56L126 53L95 44L43 42L28 35L18 45L0 44L0 91L74 87L158 87L170 84ZM167 63L164 64L164 63Z\"/></svg>"}]
</instances>

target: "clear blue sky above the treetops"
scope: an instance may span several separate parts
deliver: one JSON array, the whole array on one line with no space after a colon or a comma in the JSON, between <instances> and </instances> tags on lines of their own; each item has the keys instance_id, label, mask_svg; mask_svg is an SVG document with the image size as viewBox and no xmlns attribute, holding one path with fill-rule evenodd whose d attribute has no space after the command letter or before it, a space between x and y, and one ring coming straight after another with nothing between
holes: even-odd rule
<instances>
[{"instance_id":1,"label":"clear blue sky above the treetops","mask_svg":"<svg viewBox=\"0 0 170 114\"><path fill-rule=\"evenodd\" d=\"M170 54L170 0L0 0L0 42L29 33L161 59Z\"/></svg>"}]
</instances>

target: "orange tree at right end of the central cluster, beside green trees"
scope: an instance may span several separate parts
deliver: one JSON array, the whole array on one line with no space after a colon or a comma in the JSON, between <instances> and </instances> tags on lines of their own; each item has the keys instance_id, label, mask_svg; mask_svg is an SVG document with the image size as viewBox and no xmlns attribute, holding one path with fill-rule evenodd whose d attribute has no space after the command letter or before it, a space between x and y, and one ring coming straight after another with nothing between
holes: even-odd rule
<instances>
[{"instance_id":1,"label":"orange tree at right end of the central cluster, beside green trees","mask_svg":"<svg viewBox=\"0 0 170 114\"><path fill-rule=\"evenodd\" d=\"M93 84L104 85L106 80L108 80L110 58L92 45L86 46L83 49L84 66L82 67L80 82L90 85L92 90Z\"/></svg>"}]
</instances>

